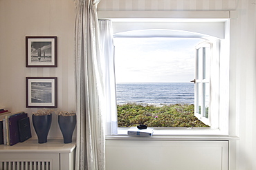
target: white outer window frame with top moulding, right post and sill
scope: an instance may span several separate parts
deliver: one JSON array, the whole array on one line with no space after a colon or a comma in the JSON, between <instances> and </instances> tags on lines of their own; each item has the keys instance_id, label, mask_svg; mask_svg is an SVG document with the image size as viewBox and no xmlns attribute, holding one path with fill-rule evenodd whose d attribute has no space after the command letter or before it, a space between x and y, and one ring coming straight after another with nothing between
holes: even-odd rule
<instances>
[{"instance_id":1,"label":"white outer window frame with top moulding, right post and sill","mask_svg":"<svg viewBox=\"0 0 256 170\"><path fill-rule=\"evenodd\" d=\"M177 15L177 13L179 13ZM173 14L173 15L172 15ZM148 21L157 21L157 22L176 22L177 20L183 22L192 22L192 21L199 21L199 22L223 22L225 27L223 28L223 39L219 42L215 42L216 44L213 47L218 48L219 43L219 92L218 95L211 95L212 97L217 98L215 105L218 105L217 109L210 110L212 116L218 114L219 116L215 116L214 119L219 121L219 125L214 125L213 127L217 128L210 128L210 129L166 129L166 128L156 128L154 130L154 136L190 136L190 135L221 135L221 136L228 136L230 134L229 129L229 120L231 119L229 116L229 107L230 107L230 85L229 85L229 67L230 67L230 33L234 34L234 29L231 30L230 23L232 23L232 27L235 28L235 19L232 19L233 16L236 17L236 13L232 11L221 11L221 12L128 12L128 11L99 11L98 12L99 19L111 19L114 22L126 23L129 21L136 22L148 22ZM173 16L173 17L170 17ZM183 16L183 17L177 17ZM231 21L231 22L230 22ZM134 24L133 24L134 25ZM136 27L137 25L134 25ZM129 26L125 24L122 29L129 29ZM133 30L134 28L131 28ZM137 28L138 29L138 28ZM135 29L136 30L136 29ZM234 48L235 45L232 43L232 47ZM222 74L224 72L224 74ZM217 76L216 76L217 77ZM216 78L214 77L214 78ZM225 81L223 81L225 80ZM223 82L223 83L222 83ZM224 84L225 83L225 84ZM233 88L233 87L231 87ZM223 93L224 92L224 93ZM212 100L212 99L211 99ZM212 105L212 104L211 104ZM234 118L232 118L234 120ZM118 128L118 135L117 136L126 136L127 128ZM231 132L232 134L232 132ZM126 138L126 137L125 137Z\"/></svg>"}]
</instances>

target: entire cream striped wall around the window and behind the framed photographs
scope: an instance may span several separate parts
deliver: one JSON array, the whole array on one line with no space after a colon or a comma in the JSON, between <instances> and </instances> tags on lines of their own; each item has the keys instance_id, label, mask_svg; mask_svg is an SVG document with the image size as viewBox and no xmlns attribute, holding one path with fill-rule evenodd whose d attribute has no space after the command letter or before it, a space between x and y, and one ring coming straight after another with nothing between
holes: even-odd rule
<instances>
[{"instance_id":1,"label":"entire cream striped wall around the window and behind the framed photographs","mask_svg":"<svg viewBox=\"0 0 256 170\"><path fill-rule=\"evenodd\" d=\"M256 1L255 0L102 0L98 10L235 10L237 56L230 70L233 98L230 126L239 136L230 145L230 169L256 169ZM58 108L75 109L74 39L75 5L72 0L0 0L0 105L26 111L25 77L56 76ZM58 37L57 68L25 67L25 36ZM35 132L33 132L35 136ZM49 136L61 136L54 116Z\"/></svg>"}]
</instances>

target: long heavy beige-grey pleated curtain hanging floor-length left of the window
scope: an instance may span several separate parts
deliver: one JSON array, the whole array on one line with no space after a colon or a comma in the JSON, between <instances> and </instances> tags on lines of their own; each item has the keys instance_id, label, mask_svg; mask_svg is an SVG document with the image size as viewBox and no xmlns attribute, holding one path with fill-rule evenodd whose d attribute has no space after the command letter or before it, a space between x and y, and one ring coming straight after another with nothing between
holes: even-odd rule
<instances>
[{"instance_id":1,"label":"long heavy beige-grey pleated curtain hanging floor-length left of the window","mask_svg":"<svg viewBox=\"0 0 256 170\"><path fill-rule=\"evenodd\" d=\"M105 169L104 79L100 55L99 0L75 0L75 91L77 148L75 169Z\"/></svg>"}]
</instances>

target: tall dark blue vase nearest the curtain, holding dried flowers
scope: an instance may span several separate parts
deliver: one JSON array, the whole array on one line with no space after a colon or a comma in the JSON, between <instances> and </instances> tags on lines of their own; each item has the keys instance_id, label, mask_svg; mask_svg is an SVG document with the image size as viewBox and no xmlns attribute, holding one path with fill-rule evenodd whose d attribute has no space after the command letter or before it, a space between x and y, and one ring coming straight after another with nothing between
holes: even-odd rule
<instances>
[{"instance_id":1,"label":"tall dark blue vase nearest the curtain, holding dried flowers","mask_svg":"<svg viewBox=\"0 0 256 170\"><path fill-rule=\"evenodd\" d=\"M76 115L74 116L58 116L58 123L60 130L62 131L62 136L64 143L71 143L73 131L76 125Z\"/></svg>"}]
</instances>

